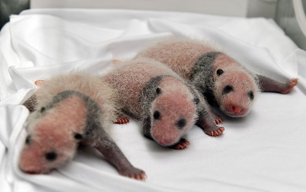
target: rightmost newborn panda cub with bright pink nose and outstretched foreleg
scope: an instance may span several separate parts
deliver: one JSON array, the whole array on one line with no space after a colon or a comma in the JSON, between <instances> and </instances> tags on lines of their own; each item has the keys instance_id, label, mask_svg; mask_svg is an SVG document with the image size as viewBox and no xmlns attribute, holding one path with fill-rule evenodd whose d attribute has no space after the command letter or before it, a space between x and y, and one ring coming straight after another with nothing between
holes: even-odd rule
<instances>
[{"instance_id":1,"label":"rightmost newborn panda cub with bright pink nose and outstretched foreleg","mask_svg":"<svg viewBox=\"0 0 306 192\"><path fill-rule=\"evenodd\" d=\"M162 41L137 57L157 59L170 66L231 117L247 115L261 89L286 94L297 84L297 79L283 84L251 73L212 46L187 38Z\"/></svg>"}]
</instances>

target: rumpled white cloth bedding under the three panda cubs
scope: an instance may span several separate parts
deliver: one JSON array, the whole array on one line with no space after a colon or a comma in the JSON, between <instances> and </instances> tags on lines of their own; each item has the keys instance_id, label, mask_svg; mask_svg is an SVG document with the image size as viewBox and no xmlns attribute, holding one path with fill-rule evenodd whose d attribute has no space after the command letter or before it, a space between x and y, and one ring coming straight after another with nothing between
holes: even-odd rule
<instances>
[{"instance_id":1,"label":"rumpled white cloth bedding under the three panda cubs","mask_svg":"<svg viewBox=\"0 0 306 192\"><path fill-rule=\"evenodd\" d=\"M82 148L45 175L18 169L34 81L71 69L103 74L112 59L132 57L167 35L213 39L249 69L285 82L286 95L262 93L248 116L226 118L210 137L194 126L184 150L146 139L139 124L110 135L147 181L120 176L97 151ZM272 21L180 12L33 9L11 16L0 32L1 191L306 191L306 52ZM64 82L63 82L64 83Z\"/></svg>"}]
</instances>

